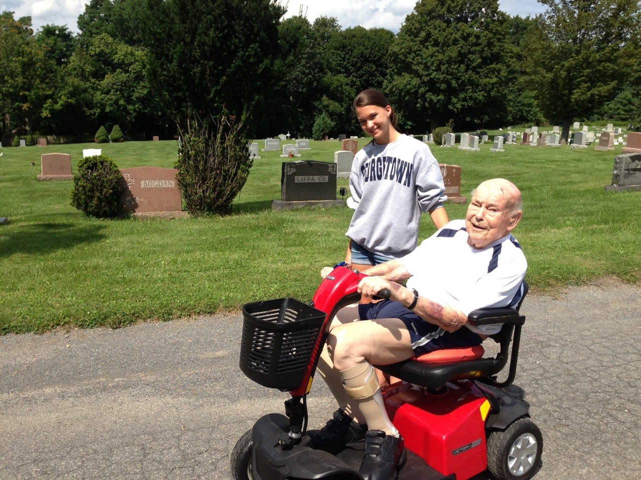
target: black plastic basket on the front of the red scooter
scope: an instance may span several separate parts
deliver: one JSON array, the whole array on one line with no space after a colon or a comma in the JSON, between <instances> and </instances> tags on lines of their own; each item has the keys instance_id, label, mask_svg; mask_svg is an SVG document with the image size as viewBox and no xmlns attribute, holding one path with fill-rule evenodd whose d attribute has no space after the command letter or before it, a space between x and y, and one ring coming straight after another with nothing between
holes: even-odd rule
<instances>
[{"instance_id":1,"label":"black plastic basket on the front of the red scooter","mask_svg":"<svg viewBox=\"0 0 641 480\"><path fill-rule=\"evenodd\" d=\"M294 298L279 298L246 303L242 314L242 372L263 387L295 390L303 381L325 312Z\"/></svg>"}]
</instances>

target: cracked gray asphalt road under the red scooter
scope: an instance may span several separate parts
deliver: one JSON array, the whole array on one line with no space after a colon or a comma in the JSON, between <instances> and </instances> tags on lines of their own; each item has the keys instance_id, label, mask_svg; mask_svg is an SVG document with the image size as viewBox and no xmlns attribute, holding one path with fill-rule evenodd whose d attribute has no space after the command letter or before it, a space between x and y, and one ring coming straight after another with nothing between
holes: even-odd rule
<instances>
[{"instance_id":1,"label":"cracked gray asphalt road under the red scooter","mask_svg":"<svg viewBox=\"0 0 641 480\"><path fill-rule=\"evenodd\" d=\"M638 286L530 294L522 312L508 392L544 435L535 479L640 479ZM0 479L228 479L236 440L287 398L238 369L241 325L234 314L0 337ZM309 404L310 428L334 410L320 378Z\"/></svg>"}]
</instances>

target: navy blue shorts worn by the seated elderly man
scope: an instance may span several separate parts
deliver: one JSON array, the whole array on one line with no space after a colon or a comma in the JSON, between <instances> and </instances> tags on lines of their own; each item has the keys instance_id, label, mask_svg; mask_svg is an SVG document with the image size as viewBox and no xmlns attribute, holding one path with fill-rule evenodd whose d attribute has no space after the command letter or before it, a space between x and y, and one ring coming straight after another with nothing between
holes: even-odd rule
<instances>
[{"instance_id":1,"label":"navy blue shorts worn by the seated elderly man","mask_svg":"<svg viewBox=\"0 0 641 480\"><path fill-rule=\"evenodd\" d=\"M412 349L415 355L423 355L434 350L453 347L470 347L483 342L478 334L464 326L450 333L439 326L429 323L417 314L403 307L399 301L382 300L376 303L360 303L358 315L361 320L377 318L397 318L403 321L410 331Z\"/></svg>"}]
</instances>

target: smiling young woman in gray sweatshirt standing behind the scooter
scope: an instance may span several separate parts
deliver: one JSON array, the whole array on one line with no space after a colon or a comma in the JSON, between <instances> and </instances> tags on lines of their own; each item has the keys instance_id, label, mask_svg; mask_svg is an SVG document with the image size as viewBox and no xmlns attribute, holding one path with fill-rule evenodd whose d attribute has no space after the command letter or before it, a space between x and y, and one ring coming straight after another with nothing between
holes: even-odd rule
<instances>
[{"instance_id":1,"label":"smiling young woman in gray sweatshirt standing behind the scooter","mask_svg":"<svg viewBox=\"0 0 641 480\"><path fill-rule=\"evenodd\" d=\"M345 261L365 271L417 246L420 217L429 212L437 228L447 223L445 187L429 147L397 130L394 109L378 90L363 90L354 113L372 141L354 156L347 205L354 215Z\"/></svg>"}]
</instances>

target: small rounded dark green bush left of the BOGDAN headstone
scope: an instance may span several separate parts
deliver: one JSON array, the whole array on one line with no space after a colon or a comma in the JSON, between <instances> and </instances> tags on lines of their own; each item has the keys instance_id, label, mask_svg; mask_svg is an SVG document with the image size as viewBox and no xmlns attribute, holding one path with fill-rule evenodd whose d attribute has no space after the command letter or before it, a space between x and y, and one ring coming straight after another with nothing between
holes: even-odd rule
<instances>
[{"instance_id":1,"label":"small rounded dark green bush left of the BOGDAN headstone","mask_svg":"<svg viewBox=\"0 0 641 480\"><path fill-rule=\"evenodd\" d=\"M85 157L78 163L71 191L71 205L85 215L115 218L122 211L122 174L117 164L104 155Z\"/></svg>"}]
</instances>

